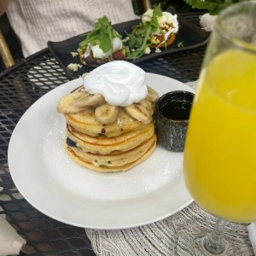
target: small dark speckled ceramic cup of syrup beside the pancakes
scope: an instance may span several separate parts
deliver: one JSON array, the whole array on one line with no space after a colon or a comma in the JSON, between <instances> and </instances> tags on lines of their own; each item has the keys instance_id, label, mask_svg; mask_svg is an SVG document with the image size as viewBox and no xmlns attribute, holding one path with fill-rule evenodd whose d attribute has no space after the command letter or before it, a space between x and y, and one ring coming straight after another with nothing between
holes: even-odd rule
<instances>
[{"instance_id":1,"label":"small dark speckled ceramic cup of syrup beside the pancakes","mask_svg":"<svg viewBox=\"0 0 256 256\"><path fill-rule=\"evenodd\" d=\"M170 91L155 105L157 142L164 148L182 152L189 125L194 94L186 90Z\"/></svg>"}]
</instances>

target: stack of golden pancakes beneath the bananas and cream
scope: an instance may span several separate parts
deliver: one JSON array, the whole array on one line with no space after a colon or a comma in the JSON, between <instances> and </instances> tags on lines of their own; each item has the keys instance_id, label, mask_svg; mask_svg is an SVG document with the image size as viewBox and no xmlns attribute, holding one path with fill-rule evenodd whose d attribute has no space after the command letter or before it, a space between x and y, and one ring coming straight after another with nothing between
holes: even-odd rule
<instances>
[{"instance_id":1,"label":"stack of golden pancakes beneath the bananas and cream","mask_svg":"<svg viewBox=\"0 0 256 256\"><path fill-rule=\"evenodd\" d=\"M76 91L81 91L81 87L73 92ZM154 102L156 98L155 93ZM152 114L154 102L150 105ZM65 148L73 160L97 172L119 172L148 158L156 144L153 118L142 122L119 107L113 123L105 125L96 119L95 109L64 113L67 120Z\"/></svg>"}]
</instances>

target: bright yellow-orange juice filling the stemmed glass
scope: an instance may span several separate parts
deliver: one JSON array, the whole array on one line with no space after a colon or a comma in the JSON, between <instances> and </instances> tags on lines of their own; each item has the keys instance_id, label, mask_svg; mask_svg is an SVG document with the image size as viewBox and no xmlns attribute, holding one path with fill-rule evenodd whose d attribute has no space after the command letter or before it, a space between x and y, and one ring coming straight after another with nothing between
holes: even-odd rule
<instances>
[{"instance_id":1,"label":"bright yellow-orange juice filling the stemmed glass","mask_svg":"<svg viewBox=\"0 0 256 256\"><path fill-rule=\"evenodd\" d=\"M235 222L256 221L256 55L230 49L201 73L184 178L207 212Z\"/></svg>"}]
</instances>

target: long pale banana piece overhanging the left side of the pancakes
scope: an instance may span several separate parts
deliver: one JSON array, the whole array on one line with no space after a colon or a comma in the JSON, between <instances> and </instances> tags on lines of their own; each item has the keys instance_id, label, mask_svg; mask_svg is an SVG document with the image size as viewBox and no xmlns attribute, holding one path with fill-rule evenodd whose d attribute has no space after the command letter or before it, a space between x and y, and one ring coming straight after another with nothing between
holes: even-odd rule
<instances>
[{"instance_id":1,"label":"long pale banana piece overhanging the left side of the pancakes","mask_svg":"<svg viewBox=\"0 0 256 256\"><path fill-rule=\"evenodd\" d=\"M105 99L100 94L73 92L61 98L57 110L59 113L78 113L90 107L96 108L104 103Z\"/></svg>"}]
</instances>

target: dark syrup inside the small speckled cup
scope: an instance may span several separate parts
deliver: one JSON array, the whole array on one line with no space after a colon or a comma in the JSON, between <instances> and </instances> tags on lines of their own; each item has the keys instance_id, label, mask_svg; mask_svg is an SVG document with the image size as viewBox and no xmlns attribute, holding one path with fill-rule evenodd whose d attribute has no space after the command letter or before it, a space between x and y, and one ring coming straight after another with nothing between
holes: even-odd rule
<instances>
[{"instance_id":1,"label":"dark syrup inside the small speckled cup","mask_svg":"<svg viewBox=\"0 0 256 256\"><path fill-rule=\"evenodd\" d=\"M162 108L161 113L172 120L188 120L191 110L189 102L167 102Z\"/></svg>"}]
</instances>

